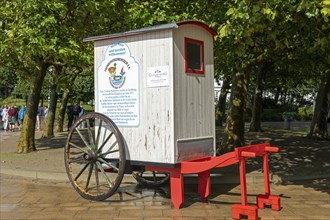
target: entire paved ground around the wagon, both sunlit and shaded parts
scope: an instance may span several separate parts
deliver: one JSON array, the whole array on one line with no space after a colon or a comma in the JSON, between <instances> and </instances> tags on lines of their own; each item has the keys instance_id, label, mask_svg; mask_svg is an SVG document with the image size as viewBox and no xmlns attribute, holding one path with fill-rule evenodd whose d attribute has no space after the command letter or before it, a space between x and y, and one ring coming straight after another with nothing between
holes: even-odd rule
<instances>
[{"instance_id":1,"label":"entire paved ground around the wagon, both sunlit and shaded parts","mask_svg":"<svg viewBox=\"0 0 330 220\"><path fill-rule=\"evenodd\" d=\"M261 219L330 220L330 142L305 138L308 123L265 124L262 133L247 132L247 144L269 141L280 152L269 158L272 194L280 195L281 211L259 209ZM330 130L330 129L329 129ZM174 209L169 186L147 188L125 176L118 192L105 202L81 198L67 180L64 167L66 132L42 139L36 132L38 151L17 154L19 132L0 131L0 219L231 219L231 205L240 202L238 167L216 170L207 203L200 201L197 184L185 185L185 202ZM221 138L221 131L217 138ZM248 200L263 192L260 160L247 161ZM278 179L276 179L276 178ZM216 181L219 180L219 181ZM231 179L234 180L234 179Z\"/></svg>"}]
</instances>

